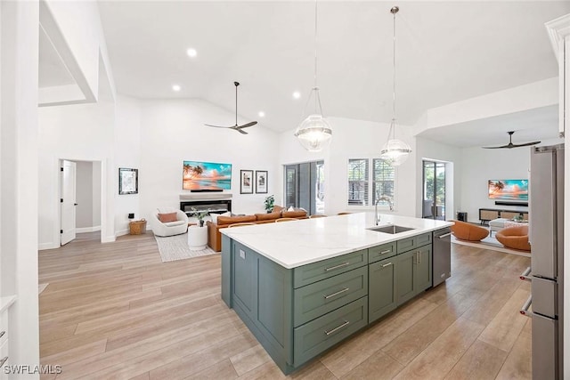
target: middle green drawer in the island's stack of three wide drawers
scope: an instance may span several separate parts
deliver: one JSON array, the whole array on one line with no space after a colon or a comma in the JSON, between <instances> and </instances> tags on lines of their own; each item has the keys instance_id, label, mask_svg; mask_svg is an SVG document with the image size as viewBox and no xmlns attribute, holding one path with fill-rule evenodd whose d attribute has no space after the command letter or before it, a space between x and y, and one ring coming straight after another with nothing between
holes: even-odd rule
<instances>
[{"instance_id":1,"label":"middle green drawer in the island's stack of three wide drawers","mask_svg":"<svg viewBox=\"0 0 570 380\"><path fill-rule=\"evenodd\" d=\"M300 326L368 293L367 267L295 289L293 324Z\"/></svg>"}]
</instances>

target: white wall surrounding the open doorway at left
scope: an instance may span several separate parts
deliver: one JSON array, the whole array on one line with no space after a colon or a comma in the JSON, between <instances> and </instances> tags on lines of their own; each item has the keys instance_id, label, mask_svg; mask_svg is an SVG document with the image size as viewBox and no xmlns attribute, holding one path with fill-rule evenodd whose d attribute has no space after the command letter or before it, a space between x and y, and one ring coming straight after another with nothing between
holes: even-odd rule
<instances>
[{"instance_id":1,"label":"white wall surrounding the open doorway at left","mask_svg":"<svg viewBox=\"0 0 570 380\"><path fill-rule=\"evenodd\" d=\"M59 247L60 169L62 158L102 163L102 241L113 241L117 182L114 160L114 105L77 104L39 109L39 247ZM107 186L110 183L110 186Z\"/></svg>"}]
</instances>

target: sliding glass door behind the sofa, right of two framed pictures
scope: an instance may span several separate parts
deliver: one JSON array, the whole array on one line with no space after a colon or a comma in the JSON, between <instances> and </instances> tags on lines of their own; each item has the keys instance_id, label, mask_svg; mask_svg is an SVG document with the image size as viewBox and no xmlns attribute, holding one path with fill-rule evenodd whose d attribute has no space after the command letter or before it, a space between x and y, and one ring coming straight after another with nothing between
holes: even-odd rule
<instances>
[{"instance_id":1,"label":"sliding glass door behind the sofa, right of two framed pictures","mask_svg":"<svg viewBox=\"0 0 570 380\"><path fill-rule=\"evenodd\" d=\"M285 166L285 207L302 207L308 214L324 213L324 161Z\"/></svg>"}]
</instances>

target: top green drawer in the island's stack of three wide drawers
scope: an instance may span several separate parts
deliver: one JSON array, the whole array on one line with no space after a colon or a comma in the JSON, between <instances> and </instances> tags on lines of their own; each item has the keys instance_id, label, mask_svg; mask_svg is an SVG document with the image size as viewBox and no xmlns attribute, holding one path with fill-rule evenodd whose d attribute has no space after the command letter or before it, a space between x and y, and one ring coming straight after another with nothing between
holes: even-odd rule
<instances>
[{"instance_id":1,"label":"top green drawer in the island's stack of three wide drawers","mask_svg":"<svg viewBox=\"0 0 570 380\"><path fill-rule=\"evenodd\" d=\"M293 271L293 287L304 287L316 281L362 267L367 263L368 249L362 249L321 262L303 265Z\"/></svg>"}]
</instances>

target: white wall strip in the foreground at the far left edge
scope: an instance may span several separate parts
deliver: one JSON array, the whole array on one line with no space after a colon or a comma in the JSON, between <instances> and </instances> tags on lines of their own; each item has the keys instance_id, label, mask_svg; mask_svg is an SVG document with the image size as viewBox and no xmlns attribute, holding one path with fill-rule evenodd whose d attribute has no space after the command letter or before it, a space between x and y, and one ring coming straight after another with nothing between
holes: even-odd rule
<instances>
[{"instance_id":1,"label":"white wall strip in the foreground at the far left edge","mask_svg":"<svg viewBox=\"0 0 570 380\"><path fill-rule=\"evenodd\" d=\"M10 365L39 365L37 297L37 1L0 2L0 290ZM39 378L22 375L21 378Z\"/></svg>"}]
</instances>

